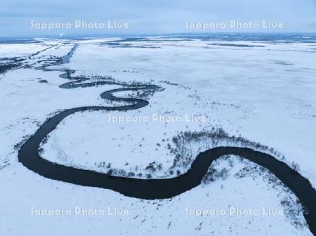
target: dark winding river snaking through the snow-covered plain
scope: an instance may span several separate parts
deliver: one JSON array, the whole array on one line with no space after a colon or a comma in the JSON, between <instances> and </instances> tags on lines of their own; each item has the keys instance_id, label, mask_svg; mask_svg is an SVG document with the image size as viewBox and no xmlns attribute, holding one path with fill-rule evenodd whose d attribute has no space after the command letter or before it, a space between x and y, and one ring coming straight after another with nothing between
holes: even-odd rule
<instances>
[{"instance_id":1,"label":"dark winding river snaking through the snow-covered plain","mask_svg":"<svg viewBox=\"0 0 316 236\"><path fill-rule=\"evenodd\" d=\"M124 105L115 107L90 106L90 107L75 107L68 110L63 110L53 117L49 118L41 125L41 127L30 137L21 147L18 152L18 159L27 169L30 169L39 175L46 178L51 178L57 181L73 183L77 185L84 185L90 187L106 188L120 192L128 197L137 197L140 199L165 199L180 195L183 192L189 191L202 183L202 178L209 169L212 162L223 155L237 155L249 159L260 166L265 167L270 172L275 174L284 185L294 192L300 199L308 214L304 214L310 231L316 235L316 191L310 182L301 176L298 172L291 169L284 162L279 161L272 155L264 152L259 152L246 147L214 147L211 150L200 153L190 169L180 176L175 178L164 179L138 179L128 177L110 176L105 173L96 171L89 171L84 169L76 169L69 166L55 164L42 158L39 155L39 146L41 141L51 133L63 119L75 112L82 112L86 110L104 110L111 111L127 111L137 110L149 104L147 100L138 98L119 98L114 96L114 93L121 91L155 91L159 89L158 86L152 84L125 84L114 81L88 81L86 77L72 77L73 70L67 69L52 69L48 68L53 65L62 65L68 63L70 57L77 49L77 45L72 48L70 53L62 57L60 60L49 65L37 67L37 70L44 71L60 71L60 77L70 79L65 84L62 84L62 89L72 89L84 86L96 86L103 84L116 84L122 86L121 89L113 89L101 93L101 98L105 100L113 100L124 102ZM126 105L127 103L127 105ZM211 188L211 186L210 186ZM233 196L232 196L233 197ZM193 201L194 199L192 199Z\"/></svg>"}]
</instances>

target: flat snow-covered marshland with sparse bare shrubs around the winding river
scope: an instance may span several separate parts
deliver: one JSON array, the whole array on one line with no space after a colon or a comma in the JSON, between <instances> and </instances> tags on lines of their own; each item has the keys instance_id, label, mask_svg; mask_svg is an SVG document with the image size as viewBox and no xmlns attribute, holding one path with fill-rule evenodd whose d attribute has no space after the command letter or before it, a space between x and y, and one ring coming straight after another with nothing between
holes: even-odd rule
<instances>
[{"instance_id":1,"label":"flat snow-covered marshland with sparse bare shrubs around the winding river","mask_svg":"<svg viewBox=\"0 0 316 236\"><path fill-rule=\"evenodd\" d=\"M185 175L200 152L247 147L315 191L315 37L33 39L0 52L0 235L312 235L302 199L238 155L163 199L63 181L58 166L166 180ZM140 100L148 103L133 107ZM73 108L36 149L55 171L27 168L23 145Z\"/></svg>"}]
</instances>

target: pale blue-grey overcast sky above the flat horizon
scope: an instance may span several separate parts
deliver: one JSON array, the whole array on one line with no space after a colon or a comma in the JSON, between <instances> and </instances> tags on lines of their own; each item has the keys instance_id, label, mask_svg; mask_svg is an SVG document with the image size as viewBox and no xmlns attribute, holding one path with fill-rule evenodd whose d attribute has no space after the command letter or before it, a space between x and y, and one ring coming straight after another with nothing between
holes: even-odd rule
<instances>
[{"instance_id":1,"label":"pale blue-grey overcast sky above the flat horizon","mask_svg":"<svg viewBox=\"0 0 316 236\"><path fill-rule=\"evenodd\" d=\"M34 23L70 23L64 29L31 28ZM75 20L104 22L103 29L74 29ZM107 29L128 23L124 29ZM229 21L260 23L259 29L230 29ZM262 29L262 21L283 28ZM226 23L225 29L192 29L190 23ZM34 25L33 25L34 26ZM38 26L38 25L37 25ZM180 32L316 32L316 0L54 0L0 1L0 37L62 34L163 34Z\"/></svg>"}]
</instances>

